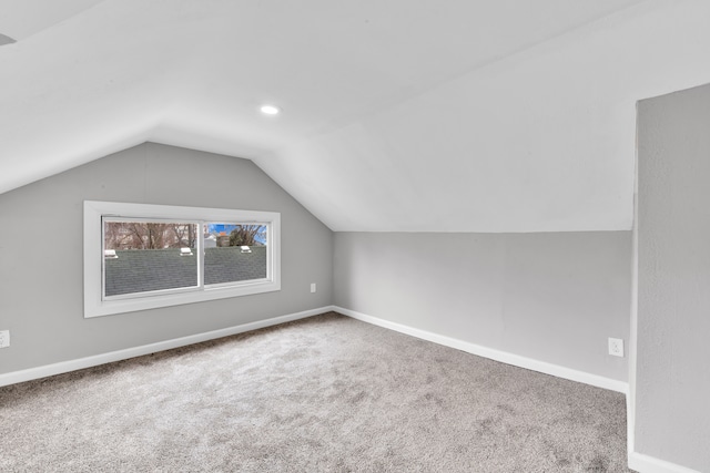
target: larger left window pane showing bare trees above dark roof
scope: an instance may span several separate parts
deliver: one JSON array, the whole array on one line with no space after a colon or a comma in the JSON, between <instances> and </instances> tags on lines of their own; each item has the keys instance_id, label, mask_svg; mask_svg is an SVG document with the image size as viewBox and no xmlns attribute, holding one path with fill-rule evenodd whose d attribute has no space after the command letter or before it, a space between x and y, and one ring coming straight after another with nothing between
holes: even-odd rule
<instances>
[{"instance_id":1,"label":"larger left window pane showing bare trees above dark roof","mask_svg":"<svg viewBox=\"0 0 710 473\"><path fill-rule=\"evenodd\" d=\"M197 286L197 225L103 222L104 296Z\"/></svg>"}]
</instances>

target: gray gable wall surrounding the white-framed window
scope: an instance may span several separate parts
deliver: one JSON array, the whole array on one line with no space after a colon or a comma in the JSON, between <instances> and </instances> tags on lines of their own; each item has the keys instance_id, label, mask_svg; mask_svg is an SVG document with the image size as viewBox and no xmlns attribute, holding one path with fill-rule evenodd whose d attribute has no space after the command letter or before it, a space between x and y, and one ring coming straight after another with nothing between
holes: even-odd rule
<instances>
[{"instance_id":1,"label":"gray gable wall surrounding the white-framed window","mask_svg":"<svg viewBox=\"0 0 710 473\"><path fill-rule=\"evenodd\" d=\"M282 290L84 319L84 199L280 212ZM333 233L251 161L146 143L1 194L0 228L0 373L332 304Z\"/></svg>"}]
</instances>

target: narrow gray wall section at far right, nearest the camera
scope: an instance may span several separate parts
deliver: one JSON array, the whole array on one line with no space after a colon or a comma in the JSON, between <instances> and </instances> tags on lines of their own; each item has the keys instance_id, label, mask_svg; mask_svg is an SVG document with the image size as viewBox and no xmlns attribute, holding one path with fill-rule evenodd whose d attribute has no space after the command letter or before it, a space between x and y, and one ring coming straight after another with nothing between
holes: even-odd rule
<instances>
[{"instance_id":1,"label":"narrow gray wall section at far right, nearest the camera","mask_svg":"<svg viewBox=\"0 0 710 473\"><path fill-rule=\"evenodd\" d=\"M638 106L636 451L710 471L710 85Z\"/></svg>"}]
</instances>

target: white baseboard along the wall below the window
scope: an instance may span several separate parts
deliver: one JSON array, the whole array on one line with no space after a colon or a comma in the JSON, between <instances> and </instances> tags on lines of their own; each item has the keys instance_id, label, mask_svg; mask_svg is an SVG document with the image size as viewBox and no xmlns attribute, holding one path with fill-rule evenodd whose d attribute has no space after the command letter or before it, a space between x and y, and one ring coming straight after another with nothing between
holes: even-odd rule
<instances>
[{"instance_id":1,"label":"white baseboard along the wall below the window","mask_svg":"<svg viewBox=\"0 0 710 473\"><path fill-rule=\"evenodd\" d=\"M113 361L126 360L129 358L141 357L143 354L155 353L158 351L170 350L173 348L184 347L187 345L200 343L201 341L214 340L216 338L229 337L231 335L243 333L264 327L276 326L278 323L290 322L292 320L305 319L306 317L317 316L318 313L333 310L332 306L321 307L318 309L305 310L297 313L288 313L285 316L273 317L271 319L257 320L254 322L242 323L240 326L227 327L220 330L191 335L187 337L175 338L172 340L159 341L155 343L144 345L141 347L126 348L124 350L110 351L108 353L94 354L91 357L80 358L77 360L61 361L59 363L45 364L43 367L29 368L27 370L12 371L0 374L0 387L16 384L19 382L31 381L34 379L51 377L54 374L67 373L69 371L91 368L99 364L111 363Z\"/></svg>"}]
</instances>

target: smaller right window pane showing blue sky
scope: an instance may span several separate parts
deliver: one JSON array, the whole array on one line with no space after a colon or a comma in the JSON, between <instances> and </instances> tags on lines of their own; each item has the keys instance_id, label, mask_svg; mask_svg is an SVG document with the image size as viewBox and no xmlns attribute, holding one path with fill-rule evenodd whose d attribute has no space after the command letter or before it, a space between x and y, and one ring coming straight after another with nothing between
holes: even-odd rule
<instances>
[{"instance_id":1,"label":"smaller right window pane showing blue sky","mask_svg":"<svg viewBox=\"0 0 710 473\"><path fill-rule=\"evenodd\" d=\"M211 223L204 225L203 234L205 285L268 276L266 224Z\"/></svg>"}]
</instances>

